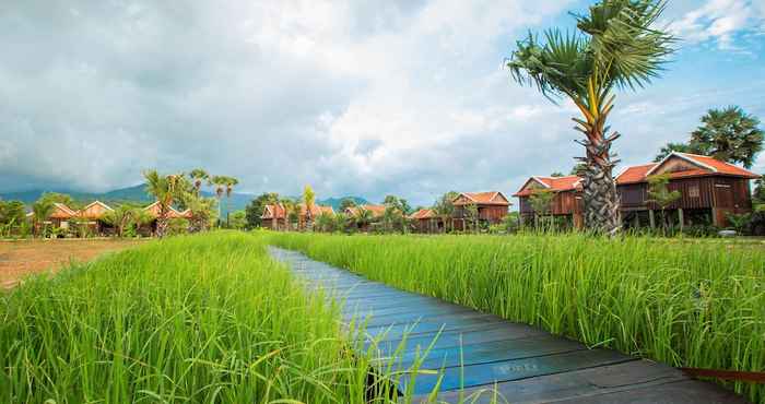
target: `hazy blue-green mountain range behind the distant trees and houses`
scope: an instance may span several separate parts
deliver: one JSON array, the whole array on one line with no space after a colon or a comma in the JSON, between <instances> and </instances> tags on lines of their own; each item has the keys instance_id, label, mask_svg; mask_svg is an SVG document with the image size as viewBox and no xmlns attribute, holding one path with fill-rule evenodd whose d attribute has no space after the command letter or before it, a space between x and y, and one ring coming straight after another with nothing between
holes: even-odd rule
<instances>
[{"instance_id":1,"label":"hazy blue-green mountain range behind the distant trees and houses","mask_svg":"<svg viewBox=\"0 0 765 404\"><path fill-rule=\"evenodd\" d=\"M102 201L104 203L119 203L119 202L138 202L138 203L149 203L154 200L153 197L146 193L145 191L146 186L141 183L138 186L133 187L128 187L128 188L120 188L120 189L115 189L111 191L107 192L78 192L78 191L69 191L69 190L30 190L30 191L22 191L22 192L8 192L8 193L0 193L0 199L4 201L22 201L24 203L32 204L34 203L39 197L48 191L52 192L59 192L59 193L67 193L71 195L75 201L79 202L92 202L94 200ZM213 197L214 193L208 192L208 191L202 191L202 194L204 197ZM234 192L231 195L231 199L228 200L228 209L226 206L226 198L224 197L223 200L221 201L221 209L223 213L227 210L231 210L232 212L234 211L240 211L244 210L247 204L255 199L257 195L252 193L239 193L239 192ZM320 205L326 205L326 206L332 206L332 209L337 212L340 210L340 202L345 199L350 198L352 199L356 204L365 204L369 203L366 199L361 198L361 197L342 197L342 198L327 198L327 199L319 199L316 201L316 203Z\"/></svg>"}]
</instances>

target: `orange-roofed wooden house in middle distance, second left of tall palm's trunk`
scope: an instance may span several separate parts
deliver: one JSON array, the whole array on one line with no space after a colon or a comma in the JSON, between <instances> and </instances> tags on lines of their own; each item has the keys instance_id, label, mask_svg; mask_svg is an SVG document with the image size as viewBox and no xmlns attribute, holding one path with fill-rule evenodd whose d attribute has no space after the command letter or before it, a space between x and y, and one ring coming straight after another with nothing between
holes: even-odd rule
<instances>
[{"instance_id":1,"label":"orange-roofed wooden house in middle distance, second left of tall palm's trunk","mask_svg":"<svg viewBox=\"0 0 765 404\"><path fill-rule=\"evenodd\" d=\"M455 206L455 213L452 216L454 227L457 230L464 230L470 225L471 222L478 221L481 224L497 224L502 222L509 206L510 201L505 198L502 192L462 192L451 204ZM470 206L475 206L478 210L478 217L471 217Z\"/></svg>"}]
</instances>

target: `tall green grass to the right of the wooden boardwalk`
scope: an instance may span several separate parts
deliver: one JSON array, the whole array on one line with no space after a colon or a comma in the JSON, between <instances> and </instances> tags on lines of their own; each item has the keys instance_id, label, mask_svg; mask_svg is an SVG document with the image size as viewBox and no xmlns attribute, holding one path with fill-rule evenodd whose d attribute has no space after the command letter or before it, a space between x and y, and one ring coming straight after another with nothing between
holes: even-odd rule
<instances>
[{"instance_id":1,"label":"tall green grass to the right of the wooden boardwalk","mask_svg":"<svg viewBox=\"0 0 765 404\"><path fill-rule=\"evenodd\" d=\"M765 249L580 235L271 242L407 290L672 366L765 369ZM730 384L754 402L765 387Z\"/></svg>"}]
</instances>

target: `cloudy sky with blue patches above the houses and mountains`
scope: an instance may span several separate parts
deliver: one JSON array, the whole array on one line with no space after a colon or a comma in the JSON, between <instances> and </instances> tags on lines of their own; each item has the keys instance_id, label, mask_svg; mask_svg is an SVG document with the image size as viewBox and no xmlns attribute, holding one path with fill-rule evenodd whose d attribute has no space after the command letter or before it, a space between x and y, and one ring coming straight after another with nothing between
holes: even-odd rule
<instances>
[{"instance_id":1,"label":"cloudy sky with blue patches above the houses and mountains","mask_svg":"<svg viewBox=\"0 0 765 404\"><path fill-rule=\"evenodd\" d=\"M16 1L0 8L0 192L106 191L196 167L239 192L514 193L582 154L572 104L513 82L528 32L589 2ZM622 166L709 109L765 121L765 0L670 1L662 76L617 92ZM617 168L619 170L619 168ZM765 173L765 154L754 171Z\"/></svg>"}]
</instances>

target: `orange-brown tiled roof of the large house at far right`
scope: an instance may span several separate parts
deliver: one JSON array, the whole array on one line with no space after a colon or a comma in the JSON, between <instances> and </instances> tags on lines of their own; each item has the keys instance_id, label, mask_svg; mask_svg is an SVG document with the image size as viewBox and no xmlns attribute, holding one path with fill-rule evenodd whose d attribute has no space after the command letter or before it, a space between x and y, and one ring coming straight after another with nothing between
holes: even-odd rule
<instances>
[{"instance_id":1,"label":"orange-brown tiled roof of the large house at far right","mask_svg":"<svg viewBox=\"0 0 765 404\"><path fill-rule=\"evenodd\" d=\"M721 162L714 157L673 152L659 163L650 163L625 168L624 171L616 176L616 183L625 185L645 182L647 181L647 177L656 174L656 170L663 165L664 162L671 158L682 158L683 161L688 162L698 168L669 173L670 178L703 177L714 175L743 177L750 179L760 178L758 175L752 171L734 166L730 163Z\"/></svg>"}]
</instances>

